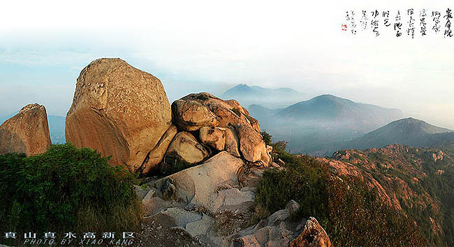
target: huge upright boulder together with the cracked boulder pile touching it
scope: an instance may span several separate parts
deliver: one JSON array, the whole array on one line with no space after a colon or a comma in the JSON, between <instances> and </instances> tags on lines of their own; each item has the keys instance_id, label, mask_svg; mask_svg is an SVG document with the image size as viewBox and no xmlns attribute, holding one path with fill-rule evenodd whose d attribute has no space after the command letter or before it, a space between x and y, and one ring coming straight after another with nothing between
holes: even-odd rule
<instances>
[{"instance_id":1,"label":"huge upright boulder together with the cracked boulder pile touching it","mask_svg":"<svg viewBox=\"0 0 454 247\"><path fill-rule=\"evenodd\" d=\"M78 77L66 140L112 156L112 165L147 174L227 151L255 165L271 156L258 121L236 100L194 93L170 107L161 81L122 59L98 59Z\"/></svg>"}]
</instances>

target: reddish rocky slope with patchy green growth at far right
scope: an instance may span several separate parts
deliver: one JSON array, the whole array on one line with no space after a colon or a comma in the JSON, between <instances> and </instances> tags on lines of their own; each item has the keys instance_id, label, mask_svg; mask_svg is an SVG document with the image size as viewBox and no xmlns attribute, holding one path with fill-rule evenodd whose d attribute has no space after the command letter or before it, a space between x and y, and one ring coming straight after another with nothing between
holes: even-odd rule
<instances>
[{"instance_id":1,"label":"reddish rocky slope with patchy green growth at far right","mask_svg":"<svg viewBox=\"0 0 454 247\"><path fill-rule=\"evenodd\" d=\"M452 156L439 149L391 144L381 149L337 151L331 158L318 159L329 163L339 177L358 177L376 188L383 202L416 220L431 244L452 243Z\"/></svg>"}]
</instances>

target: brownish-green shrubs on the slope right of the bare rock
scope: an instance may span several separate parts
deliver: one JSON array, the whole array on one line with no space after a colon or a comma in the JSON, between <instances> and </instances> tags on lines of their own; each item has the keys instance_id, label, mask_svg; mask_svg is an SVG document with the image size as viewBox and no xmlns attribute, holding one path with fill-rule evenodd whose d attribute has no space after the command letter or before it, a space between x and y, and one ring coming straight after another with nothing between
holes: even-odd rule
<instances>
[{"instance_id":1,"label":"brownish-green shrubs on the slope right of the bare rock","mask_svg":"<svg viewBox=\"0 0 454 247\"><path fill-rule=\"evenodd\" d=\"M291 156L278 147L285 170L267 170L258 184L256 204L272 213L289 200L300 204L294 218L314 216L334 246L423 246L415 225L386 204L362 181L336 177L310 156ZM261 209L263 211L263 209Z\"/></svg>"}]
</instances>

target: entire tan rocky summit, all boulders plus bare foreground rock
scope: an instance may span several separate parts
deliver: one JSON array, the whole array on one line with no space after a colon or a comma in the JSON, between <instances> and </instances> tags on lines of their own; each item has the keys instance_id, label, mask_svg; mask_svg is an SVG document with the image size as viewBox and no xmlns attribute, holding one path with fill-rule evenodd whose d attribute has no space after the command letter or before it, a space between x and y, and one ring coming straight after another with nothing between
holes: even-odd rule
<instances>
[{"instance_id":1,"label":"entire tan rocky summit, all boulders plus bare foreground rock","mask_svg":"<svg viewBox=\"0 0 454 247\"><path fill-rule=\"evenodd\" d=\"M294 200L254 220L263 172L286 168L236 100L203 92L170 105L158 78L122 59L97 59L78 77L65 128L75 147L111 156L105 167L141 175L137 246L330 246L315 218L296 216ZM0 126L0 154L30 156L50 144L42 105Z\"/></svg>"}]
</instances>

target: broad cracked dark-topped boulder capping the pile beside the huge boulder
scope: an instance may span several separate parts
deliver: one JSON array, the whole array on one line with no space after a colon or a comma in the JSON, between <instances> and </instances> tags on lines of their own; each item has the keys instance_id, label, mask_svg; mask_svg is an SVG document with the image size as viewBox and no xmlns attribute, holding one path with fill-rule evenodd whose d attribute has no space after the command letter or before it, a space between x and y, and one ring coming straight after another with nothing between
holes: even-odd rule
<instances>
[{"instance_id":1,"label":"broad cracked dark-topped boulder capping the pile beside the huge boulder","mask_svg":"<svg viewBox=\"0 0 454 247\"><path fill-rule=\"evenodd\" d=\"M221 100L210 93L192 93L172 104L173 117L177 126L193 131L203 126L227 128L244 123L260 133L258 121L249 116L236 100Z\"/></svg>"}]
</instances>

